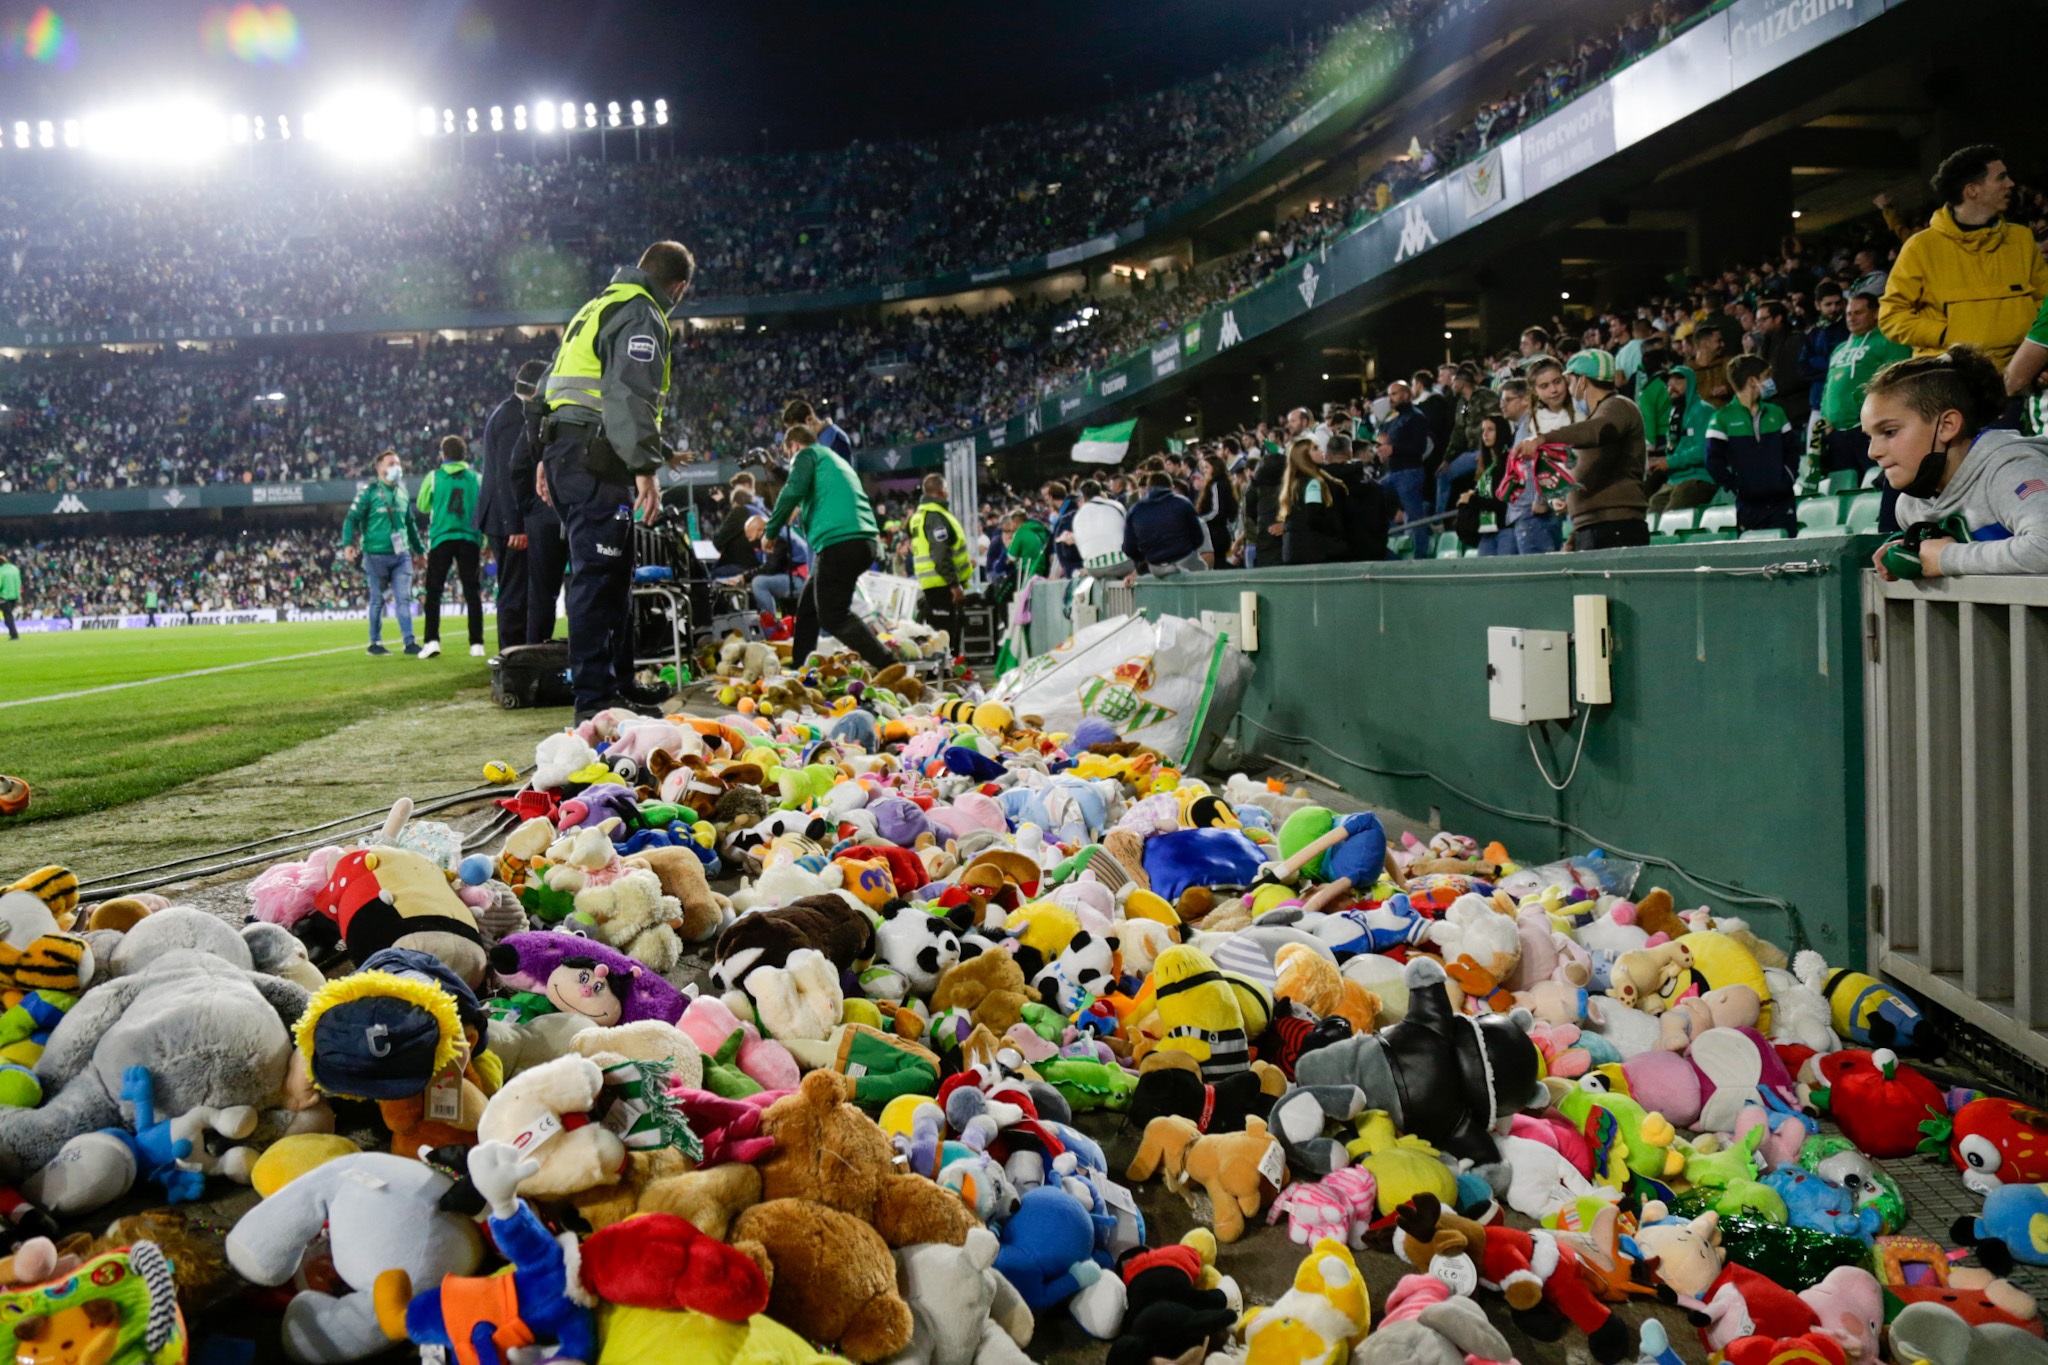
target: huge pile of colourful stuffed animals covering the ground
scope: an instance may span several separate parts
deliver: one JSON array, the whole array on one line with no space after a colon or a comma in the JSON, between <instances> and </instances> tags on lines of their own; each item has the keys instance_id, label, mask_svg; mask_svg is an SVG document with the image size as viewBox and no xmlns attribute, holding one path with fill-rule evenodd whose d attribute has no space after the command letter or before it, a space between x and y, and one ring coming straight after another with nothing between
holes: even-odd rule
<instances>
[{"instance_id":1,"label":"huge pile of colourful stuffed animals covering the ground","mask_svg":"<svg viewBox=\"0 0 2048 1365\"><path fill-rule=\"evenodd\" d=\"M399 802L240 929L10 886L0 1349L1004 1365L1061 1316L1110 1365L1507 1361L1501 1324L2048 1359L2001 1279L2048 1265L2048 1115L1915 1068L1872 976L907 669L715 688L543 739L502 849ZM1978 1267L1907 1234L1917 1152ZM1206 1226L1147 1242L1153 1179ZM219 1250L209 1183L260 1195ZM53 1240L123 1199L168 1207Z\"/></svg>"}]
</instances>

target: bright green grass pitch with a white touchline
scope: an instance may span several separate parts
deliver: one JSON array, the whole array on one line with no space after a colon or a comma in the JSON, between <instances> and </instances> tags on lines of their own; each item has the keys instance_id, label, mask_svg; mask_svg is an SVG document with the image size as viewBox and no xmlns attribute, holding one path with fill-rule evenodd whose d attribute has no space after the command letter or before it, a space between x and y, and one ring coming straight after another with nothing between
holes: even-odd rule
<instances>
[{"instance_id":1,"label":"bright green grass pitch with a white touchline","mask_svg":"<svg viewBox=\"0 0 2048 1365\"><path fill-rule=\"evenodd\" d=\"M0 641L0 772L33 788L14 821L111 810L356 720L489 690L461 622L453 647L442 641L451 653L426 661L399 653L393 628L385 634L393 653L383 659L362 653L360 620ZM174 677L221 665L246 667ZM141 686L63 696L119 684Z\"/></svg>"}]
</instances>

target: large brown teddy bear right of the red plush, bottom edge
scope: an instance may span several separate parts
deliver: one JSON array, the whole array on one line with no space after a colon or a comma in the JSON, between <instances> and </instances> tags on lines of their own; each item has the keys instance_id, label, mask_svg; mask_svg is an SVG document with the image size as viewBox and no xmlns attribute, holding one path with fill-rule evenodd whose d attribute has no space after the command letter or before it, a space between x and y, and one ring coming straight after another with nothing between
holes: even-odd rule
<instances>
[{"instance_id":1,"label":"large brown teddy bear right of the red plush, bottom edge","mask_svg":"<svg viewBox=\"0 0 2048 1365\"><path fill-rule=\"evenodd\" d=\"M866 1363L911 1338L889 1250L961 1246L979 1224L932 1181L897 1175L889 1138L850 1097L852 1081L813 1070L768 1105L762 1134L780 1146L756 1164L766 1201L733 1224L733 1246L772 1267L768 1316Z\"/></svg>"}]
</instances>

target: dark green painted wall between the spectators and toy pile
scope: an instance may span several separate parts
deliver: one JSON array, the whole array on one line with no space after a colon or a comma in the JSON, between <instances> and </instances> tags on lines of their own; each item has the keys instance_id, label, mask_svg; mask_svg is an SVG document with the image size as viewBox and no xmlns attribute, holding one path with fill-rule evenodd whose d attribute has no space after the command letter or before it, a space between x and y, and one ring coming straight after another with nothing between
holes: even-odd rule
<instances>
[{"instance_id":1,"label":"dark green painted wall between the spectators and toy pile","mask_svg":"<svg viewBox=\"0 0 2048 1365\"><path fill-rule=\"evenodd\" d=\"M1653 866L1638 886L1810 941L1839 966L1864 958L1858 575L1876 544L1208 573L1149 579L1137 602L1198 616L1257 591L1257 671L1235 724L1247 749L1413 819L1440 812L1522 862L1587 847L1669 860L1704 880ZM1759 573L1794 563L1819 571ZM1034 651L1067 634L1063 587L1034 598ZM1579 774L1552 792L1528 733L1487 714L1487 626L1571 630L1575 593L1608 598L1614 704L1593 708ZM1536 743L1563 778L1577 726Z\"/></svg>"}]
</instances>

